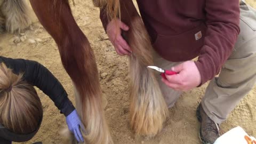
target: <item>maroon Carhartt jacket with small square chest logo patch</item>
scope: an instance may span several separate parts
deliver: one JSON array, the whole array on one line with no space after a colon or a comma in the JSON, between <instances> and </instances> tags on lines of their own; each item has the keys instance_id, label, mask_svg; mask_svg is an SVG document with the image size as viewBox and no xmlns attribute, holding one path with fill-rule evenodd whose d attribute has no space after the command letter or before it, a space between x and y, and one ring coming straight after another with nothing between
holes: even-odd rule
<instances>
[{"instance_id":1,"label":"maroon Carhartt jacket with small square chest logo patch","mask_svg":"<svg viewBox=\"0 0 256 144\"><path fill-rule=\"evenodd\" d=\"M126 0L122 0L126 1ZM137 0L155 51L164 59L195 62L202 84L217 75L239 34L239 0ZM100 12L103 27L109 20Z\"/></svg>"}]
</instances>

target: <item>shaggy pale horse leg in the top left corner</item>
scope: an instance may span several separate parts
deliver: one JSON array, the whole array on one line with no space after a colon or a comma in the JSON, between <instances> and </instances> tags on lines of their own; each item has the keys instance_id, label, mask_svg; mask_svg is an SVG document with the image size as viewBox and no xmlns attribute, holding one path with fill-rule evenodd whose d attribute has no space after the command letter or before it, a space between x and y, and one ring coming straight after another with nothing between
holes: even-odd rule
<instances>
[{"instance_id":1,"label":"shaggy pale horse leg in the top left corner","mask_svg":"<svg viewBox=\"0 0 256 144\"><path fill-rule=\"evenodd\" d=\"M31 25L31 11L25 0L4 0L1 6L5 17L5 29L10 33L20 33Z\"/></svg>"}]
</instances>

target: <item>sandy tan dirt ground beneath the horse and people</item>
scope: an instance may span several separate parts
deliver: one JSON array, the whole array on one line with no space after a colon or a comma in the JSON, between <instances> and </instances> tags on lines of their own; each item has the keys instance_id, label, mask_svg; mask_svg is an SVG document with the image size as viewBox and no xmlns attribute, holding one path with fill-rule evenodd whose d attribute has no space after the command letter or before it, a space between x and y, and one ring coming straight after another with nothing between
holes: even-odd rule
<instances>
[{"instance_id":1,"label":"sandy tan dirt ground beneath the horse and people","mask_svg":"<svg viewBox=\"0 0 256 144\"><path fill-rule=\"evenodd\" d=\"M256 7L255 0L248 0ZM191 91L184 92L178 102L170 109L170 119L161 133L151 140L139 140L134 137L129 126L129 87L127 77L127 58L116 54L114 47L106 40L107 35L99 19L99 10L91 1L75 1L71 6L74 17L89 38L97 58L102 90L106 95L105 113L111 135L115 143L200 143L198 139L199 122L195 110L204 95L207 84ZM86 9L85 9L86 8ZM0 35L0 55L11 58L36 60L49 68L63 84L74 101L72 83L63 69L59 51L51 36L35 19L35 23L21 37L21 42L13 43L13 34ZM59 113L53 102L42 91L38 90L44 109L41 129L33 139L24 143L42 141L43 143L62 143L59 130L66 124L65 117ZM256 87L239 103L221 125L224 132L241 126L256 137Z\"/></svg>"}]
</instances>

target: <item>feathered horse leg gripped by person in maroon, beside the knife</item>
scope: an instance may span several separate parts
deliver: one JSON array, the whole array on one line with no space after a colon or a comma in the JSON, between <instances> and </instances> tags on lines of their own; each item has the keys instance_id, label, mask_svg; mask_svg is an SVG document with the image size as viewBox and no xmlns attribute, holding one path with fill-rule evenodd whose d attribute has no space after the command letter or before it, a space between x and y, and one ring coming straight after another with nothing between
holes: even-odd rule
<instances>
[{"instance_id":1,"label":"feathered horse leg gripped by person in maroon, beside the knife","mask_svg":"<svg viewBox=\"0 0 256 144\"><path fill-rule=\"evenodd\" d=\"M131 46L131 126L135 133L155 136L162 130L168 109L153 71L147 66L153 63L153 47L147 30L131 0L120 1L121 20L130 27L123 31Z\"/></svg>"}]
</instances>

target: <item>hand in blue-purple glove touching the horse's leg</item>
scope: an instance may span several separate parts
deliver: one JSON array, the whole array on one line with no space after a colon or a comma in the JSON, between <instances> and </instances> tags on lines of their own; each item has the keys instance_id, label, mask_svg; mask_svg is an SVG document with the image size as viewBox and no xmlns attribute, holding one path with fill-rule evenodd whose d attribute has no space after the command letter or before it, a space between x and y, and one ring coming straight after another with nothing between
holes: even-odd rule
<instances>
[{"instance_id":1,"label":"hand in blue-purple glove touching the horse's leg","mask_svg":"<svg viewBox=\"0 0 256 144\"><path fill-rule=\"evenodd\" d=\"M82 133L80 131L80 127L82 127L82 122L76 112L76 110L72 111L67 117L66 122L68 125L69 131L71 131L78 142L84 142Z\"/></svg>"}]
</instances>

